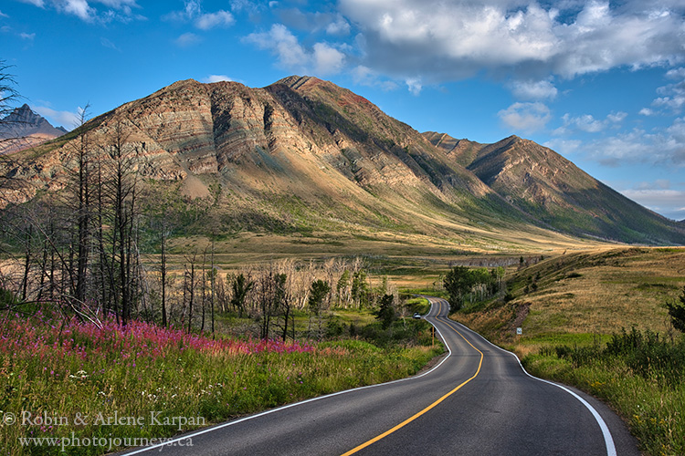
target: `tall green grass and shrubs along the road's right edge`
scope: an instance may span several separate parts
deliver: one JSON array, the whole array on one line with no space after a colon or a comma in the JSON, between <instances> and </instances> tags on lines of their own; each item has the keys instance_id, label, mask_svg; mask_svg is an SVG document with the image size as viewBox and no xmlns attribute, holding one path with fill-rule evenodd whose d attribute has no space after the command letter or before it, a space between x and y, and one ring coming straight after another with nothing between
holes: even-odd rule
<instances>
[{"instance_id":1,"label":"tall green grass and shrubs along the road's right edge","mask_svg":"<svg viewBox=\"0 0 685 456\"><path fill-rule=\"evenodd\" d=\"M685 454L685 338L633 328L605 346L547 347L522 363L533 375L606 399L628 418L648 454Z\"/></svg>"}]
</instances>

